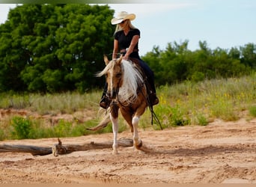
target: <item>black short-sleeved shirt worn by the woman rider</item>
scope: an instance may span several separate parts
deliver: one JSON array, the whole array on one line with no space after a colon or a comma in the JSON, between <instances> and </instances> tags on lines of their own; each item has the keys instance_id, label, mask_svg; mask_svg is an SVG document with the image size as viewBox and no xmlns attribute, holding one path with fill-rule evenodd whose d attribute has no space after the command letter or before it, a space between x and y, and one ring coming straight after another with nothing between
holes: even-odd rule
<instances>
[{"instance_id":1,"label":"black short-sleeved shirt worn by the woman rider","mask_svg":"<svg viewBox=\"0 0 256 187\"><path fill-rule=\"evenodd\" d=\"M124 34L124 31L118 31L115 33L114 37L115 40L118 40L119 49L122 50L127 49L129 47L129 44L131 43L133 36L140 36L140 34L140 31L137 28L135 28L129 30L127 35ZM135 45L134 49L138 49L138 43Z\"/></svg>"}]
</instances>

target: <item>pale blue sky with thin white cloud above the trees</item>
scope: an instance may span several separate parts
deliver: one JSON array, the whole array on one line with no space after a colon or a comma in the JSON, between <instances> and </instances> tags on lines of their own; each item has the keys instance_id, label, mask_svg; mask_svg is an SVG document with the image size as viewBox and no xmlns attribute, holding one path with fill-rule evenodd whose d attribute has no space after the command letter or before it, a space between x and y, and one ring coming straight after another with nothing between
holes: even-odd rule
<instances>
[{"instance_id":1,"label":"pale blue sky with thin white cloud above the trees","mask_svg":"<svg viewBox=\"0 0 256 187\"><path fill-rule=\"evenodd\" d=\"M16 4L0 4L0 23ZM256 44L255 0L168 0L154 4L109 4L115 15L135 13L132 21L141 31L139 53L145 55L154 46L165 50L168 43L189 40L189 49L206 41L210 49L231 49ZM112 25L109 25L112 26Z\"/></svg>"}]
</instances>

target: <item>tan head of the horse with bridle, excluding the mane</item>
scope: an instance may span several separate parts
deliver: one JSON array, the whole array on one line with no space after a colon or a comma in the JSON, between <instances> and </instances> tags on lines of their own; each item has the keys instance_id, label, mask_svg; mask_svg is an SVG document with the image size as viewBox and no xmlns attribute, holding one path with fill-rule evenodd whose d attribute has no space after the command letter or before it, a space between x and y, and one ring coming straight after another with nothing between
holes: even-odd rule
<instances>
[{"instance_id":1,"label":"tan head of the horse with bridle, excluding the mane","mask_svg":"<svg viewBox=\"0 0 256 187\"><path fill-rule=\"evenodd\" d=\"M108 70L106 71L106 82L108 84L107 96L110 99L116 99L118 95L119 88L121 88L123 84L123 70L122 70L122 55L120 58L109 59L104 56L104 61Z\"/></svg>"}]
</instances>

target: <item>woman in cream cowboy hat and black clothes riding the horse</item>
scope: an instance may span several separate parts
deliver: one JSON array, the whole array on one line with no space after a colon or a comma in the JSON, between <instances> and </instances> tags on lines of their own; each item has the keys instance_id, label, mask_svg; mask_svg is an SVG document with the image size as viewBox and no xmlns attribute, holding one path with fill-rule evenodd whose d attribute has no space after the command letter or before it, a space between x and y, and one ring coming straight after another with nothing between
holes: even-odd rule
<instances>
[{"instance_id":1,"label":"woman in cream cowboy hat and black clothes riding the horse","mask_svg":"<svg viewBox=\"0 0 256 187\"><path fill-rule=\"evenodd\" d=\"M134 13L122 11L118 13L117 17L111 20L112 25L117 25L114 33L115 40L112 58L117 58L118 52L120 52L120 54L123 55L124 60L132 58L132 60L136 59L138 61L138 64L147 76L147 82L150 87L148 88L147 86L147 89L150 91L150 105L156 105L158 104L159 99L156 97L153 71L150 70L150 67L148 67L138 55L138 39L140 38L140 31L132 25L131 21L134 19ZM107 86L104 88L103 96L100 101L100 106L102 108L109 107L109 99L106 96L106 89Z\"/></svg>"}]
</instances>

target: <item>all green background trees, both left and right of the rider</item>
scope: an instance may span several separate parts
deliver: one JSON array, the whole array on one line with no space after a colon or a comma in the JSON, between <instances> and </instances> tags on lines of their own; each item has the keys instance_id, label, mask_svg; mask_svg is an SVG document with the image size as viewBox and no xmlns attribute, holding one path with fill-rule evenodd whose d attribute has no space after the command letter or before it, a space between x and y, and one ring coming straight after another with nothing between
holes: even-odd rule
<instances>
[{"instance_id":1,"label":"all green background trees, both left and right of the rider","mask_svg":"<svg viewBox=\"0 0 256 187\"><path fill-rule=\"evenodd\" d=\"M23 4L0 25L0 92L85 92L102 88L103 54L111 54L115 26L108 5ZM256 68L256 46L190 51L188 40L154 46L142 57L156 85L243 76ZM111 55L110 55L111 56Z\"/></svg>"}]
</instances>

